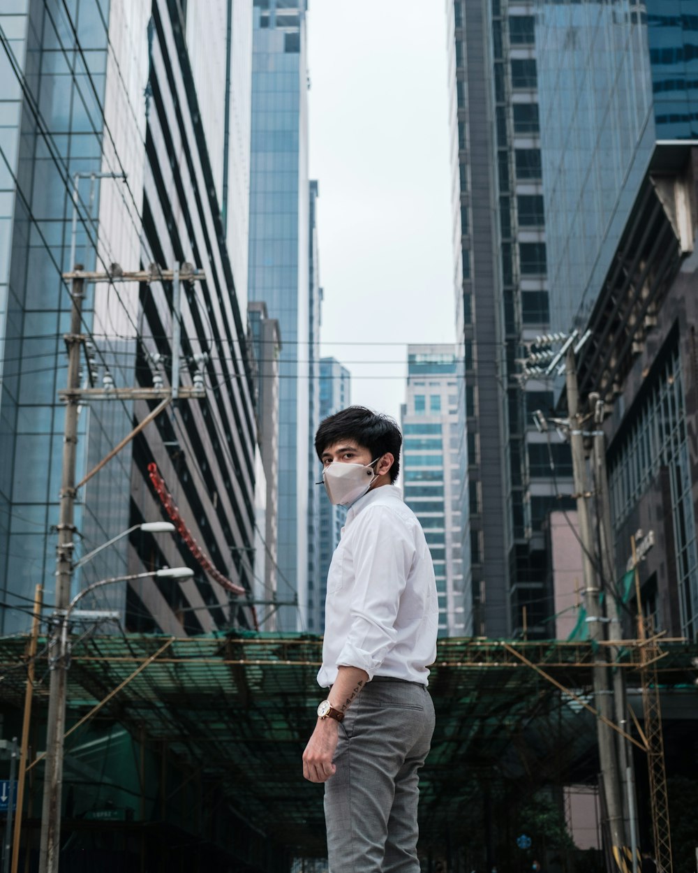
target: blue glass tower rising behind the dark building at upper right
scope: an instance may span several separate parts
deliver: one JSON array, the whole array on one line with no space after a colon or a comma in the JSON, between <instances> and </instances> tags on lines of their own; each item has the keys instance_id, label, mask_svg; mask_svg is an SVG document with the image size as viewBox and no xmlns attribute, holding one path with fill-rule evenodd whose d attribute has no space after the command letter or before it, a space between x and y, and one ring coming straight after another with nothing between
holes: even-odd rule
<instances>
[{"instance_id":1,"label":"blue glass tower rising behind the dark building at upper right","mask_svg":"<svg viewBox=\"0 0 698 873\"><path fill-rule=\"evenodd\" d=\"M536 2L554 330L584 325L658 141L698 136L695 3Z\"/></svg>"}]
</instances>

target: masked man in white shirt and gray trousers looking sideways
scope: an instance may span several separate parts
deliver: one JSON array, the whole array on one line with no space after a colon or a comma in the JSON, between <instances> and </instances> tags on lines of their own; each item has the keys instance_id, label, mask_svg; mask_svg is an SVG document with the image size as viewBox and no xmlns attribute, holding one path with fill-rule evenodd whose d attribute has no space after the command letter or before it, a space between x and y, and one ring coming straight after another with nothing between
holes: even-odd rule
<instances>
[{"instance_id":1,"label":"masked man in white shirt and gray trousers looking sideways","mask_svg":"<svg viewBox=\"0 0 698 873\"><path fill-rule=\"evenodd\" d=\"M327 495L348 507L327 575L318 683L330 691L303 755L305 778L325 783L330 873L420 870L438 602L427 540L393 485L401 443L391 418L359 406L315 437Z\"/></svg>"}]
</instances>

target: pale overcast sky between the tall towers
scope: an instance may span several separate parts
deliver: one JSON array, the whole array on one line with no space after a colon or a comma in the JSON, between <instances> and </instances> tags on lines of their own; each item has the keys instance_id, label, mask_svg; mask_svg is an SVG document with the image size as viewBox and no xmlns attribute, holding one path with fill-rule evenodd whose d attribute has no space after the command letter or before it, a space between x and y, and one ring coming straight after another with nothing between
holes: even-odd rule
<instances>
[{"instance_id":1,"label":"pale overcast sky between the tall towers","mask_svg":"<svg viewBox=\"0 0 698 873\"><path fill-rule=\"evenodd\" d=\"M407 343L455 341L444 3L309 6L321 352L399 421Z\"/></svg>"}]
</instances>

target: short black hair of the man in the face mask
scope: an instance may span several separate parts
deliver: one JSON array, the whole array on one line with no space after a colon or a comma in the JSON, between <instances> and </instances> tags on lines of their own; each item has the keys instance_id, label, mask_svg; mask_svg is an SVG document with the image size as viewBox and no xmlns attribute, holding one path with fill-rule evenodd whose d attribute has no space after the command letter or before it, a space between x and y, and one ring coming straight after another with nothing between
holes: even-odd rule
<instances>
[{"instance_id":1,"label":"short black hair of the man in the face mask","mask_svg":"<svg viewBox=\"0 0 698 873\"><path fill-rule=\"evenodd\" d=\"M383 457L389 451L394 458L389 470L390 481L398 478L402 434L393 418L373 412L365 406L349 406L325 418L315 435L315 450L319 459L322 460L322 453L328 446L343 439L351 439L362 449L368 449L372 459Z\"/></svg>"}]
</instances>

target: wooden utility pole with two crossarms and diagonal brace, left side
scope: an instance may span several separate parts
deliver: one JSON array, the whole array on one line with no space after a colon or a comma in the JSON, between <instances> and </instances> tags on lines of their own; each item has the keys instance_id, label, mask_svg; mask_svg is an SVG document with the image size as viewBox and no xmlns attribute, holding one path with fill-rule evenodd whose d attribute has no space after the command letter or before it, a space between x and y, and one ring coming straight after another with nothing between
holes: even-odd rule
<instances>
[{"instance_id":1,"label":"wooden utility pole with two crossarms and diagonal brace, left side","mask_svg":"<svg viewBox=\"0 0 698 873\"><path fill-rule=\"evenodd\" d=\"M41 814L41 842L39 849L39 873L58 873L58 856L60 852L60 820L61 799L63 788L63 759L65 741L65 705L67 690L67 668L69 658L69 643L65 633L65 623L71 603L71 583L73 571L74 508L77 487L75 484L76 457L78 445L78 407L80 402L90 400L120 400L120 399L160 399L163 402L158 411L167 405L164 401L172 399L174 386L170 388L113 388L113 384L105 388L80 388L80 348L87 340L81 333L82 304L85 296L85 283L114 282L158 282L176 281L177 297L179 296L179 281L205 278L203 272L196 271L190 264L181 265L175 271L161 270L154 265L149 271L123 272L119 265L112 265L111 272L86 272L82 265L75 265L73 272L64 273L63 278L71 281L71 329L65 334L65 345L68 349L68 378L65 390L59 393L65 401L65 425L63 438L63 468L60 490L60 512L58 520L58 546L56 551L56 595L55 609L51 617L49 640L49 663L51 678L49 684L49 709L46 725L46 765L44 771L44 801ZM179 300L174 301L173 325L180 324L180 313L175 311ZM177 333L178 336L178 333ZM174 338L173 338L174 339ZM179 380L179 341L175 347L173 341L172 357L177 361L173 364L173 376ZM205 396L203 384L200 382L192 388L177 386L181 399L191 399ZM151 414L152 415L152 414ZM147 416L151 420L151 416ZM131 431L122 440L118 449L127 444L135 434L142 430L142 424ZM107 458L113 457L110 452ZM100 462L83 478L84 485L88 478L98 471Z\"/></svg>"}]
</instances>

